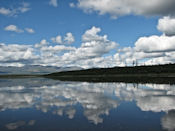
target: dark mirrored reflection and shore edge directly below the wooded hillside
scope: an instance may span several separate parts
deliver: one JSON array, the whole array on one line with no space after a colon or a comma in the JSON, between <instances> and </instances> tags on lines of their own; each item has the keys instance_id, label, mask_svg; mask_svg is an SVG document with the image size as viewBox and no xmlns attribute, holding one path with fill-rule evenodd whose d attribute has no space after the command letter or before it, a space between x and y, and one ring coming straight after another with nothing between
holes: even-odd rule
<instances>
[{"instance_id":1,"label":"dark mirrored reflection and shore edge directly below the wooded hillside","mask_svg":"<svg viewBox=\"0 0 175 131\"><path fill-rule=\"evenodd\" d=\"M125 83L153 83L153 84L175 84L175 74L172 76L133 76L133 75L76 75L76 76L45 76L45 78L60 80L60 81L74 81L74 82L125 82Z\"/></svg>"}]
</instances>

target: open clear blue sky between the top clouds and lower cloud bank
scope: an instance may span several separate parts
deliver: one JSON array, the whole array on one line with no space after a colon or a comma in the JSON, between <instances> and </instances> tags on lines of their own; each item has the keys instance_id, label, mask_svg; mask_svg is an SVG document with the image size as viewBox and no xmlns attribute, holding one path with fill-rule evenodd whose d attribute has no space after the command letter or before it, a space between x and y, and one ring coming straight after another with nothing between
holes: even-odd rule
<instances>
[{"instance_id":1,"label":"open clear blue sky between the top clouds and lower cloud bank","mask_svg":"<svg viewBox=\"0 0 175 131\"><path fill-rule=\"evenodd\" d=\"M16 0L4 1L14 1L12 3L3 2L3 5L7 7L9 5L14 6L17 3ZM156 29L156 17L145 18L130 15L116 20L111 19L109 15L88 14L80 9L71 8L69 4L71 2L76 3L75 0L60 0L58 7L50 6L49 0L18 1L30 2L29 8L31 9L17 17L0 16L1 42L34 44L43 38L49 39L58 34L64 35L67 32L72 32L76 38L75 44L79 45L81 44L81 35L92 26L102 28L102 33L108 34L111 40L117 41L121 46L134 44L137 38L143 35L159 34ZM17 25L20 28L31 27L36 33L29 35L4 31L3 28L10 24ZM11 39L9 39L9 35Z\"/></svg>"}]
</instances>

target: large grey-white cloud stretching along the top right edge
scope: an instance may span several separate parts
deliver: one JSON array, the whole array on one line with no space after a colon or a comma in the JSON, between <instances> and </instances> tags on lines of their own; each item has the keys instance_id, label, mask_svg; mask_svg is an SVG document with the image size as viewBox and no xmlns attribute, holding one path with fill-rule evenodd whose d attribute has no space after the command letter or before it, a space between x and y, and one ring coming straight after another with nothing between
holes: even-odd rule
<instances>
[{"instance_id":1,"label":"large grey-white cloud stretching along the top right edge","mask_svg":"<svg viewBox=\"0 0 175 131\"><path fill-rule=\"evenodd\" d=\"M100 15L110 14L113 18L118 16L135 15L174 15L174 0L78 0L77 6L86 12L98 12Z\"/></svg>"}]
</instances>

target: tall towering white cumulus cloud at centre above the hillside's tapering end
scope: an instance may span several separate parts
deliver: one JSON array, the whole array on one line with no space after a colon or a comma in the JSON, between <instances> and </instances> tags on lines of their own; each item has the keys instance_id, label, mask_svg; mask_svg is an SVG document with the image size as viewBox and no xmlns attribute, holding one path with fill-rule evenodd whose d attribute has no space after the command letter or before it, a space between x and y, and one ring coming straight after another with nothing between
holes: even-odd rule
<instances>
[{"instance_id":1,"label":"tall towering white cumulus cloud at centre above the hillside's tapering end","mask_svg":"<svg viewBox=\"0 0 175 131\"><path fill-rule=\"evenodd\" d=\"M80 59L87 60L90 58L102 57L117 47L117 43L107 39L107 35L100 36L97 33L101 29L92 27L87 30L82 36L83 43L73 52L68 52L63 55L64 59L77 61Z\"/></svg>"}]
</instances>

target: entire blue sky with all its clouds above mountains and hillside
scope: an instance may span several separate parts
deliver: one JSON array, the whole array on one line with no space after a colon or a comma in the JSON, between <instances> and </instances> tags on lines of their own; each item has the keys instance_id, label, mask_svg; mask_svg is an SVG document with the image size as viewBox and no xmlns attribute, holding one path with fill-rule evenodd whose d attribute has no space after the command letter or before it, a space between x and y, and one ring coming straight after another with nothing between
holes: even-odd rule
<instances>
[{"instance_id":1,"label":"entire blue sky with all its clouds above mountains and hillside","mask_svg":"<svg viewBox=\"0 0 175 131\"><path fill-rule=\"evenodd\" d=\"M175 62L175 0L0 0L0 66Z\"/></svg>"}]
</instances>

